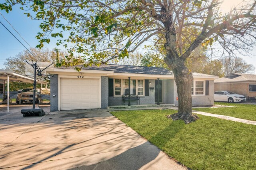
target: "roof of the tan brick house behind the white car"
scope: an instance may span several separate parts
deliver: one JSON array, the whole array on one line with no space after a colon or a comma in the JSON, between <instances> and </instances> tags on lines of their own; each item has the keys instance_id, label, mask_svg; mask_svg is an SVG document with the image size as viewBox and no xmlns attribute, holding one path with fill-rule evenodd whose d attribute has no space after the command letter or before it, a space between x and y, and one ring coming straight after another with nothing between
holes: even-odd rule
<instances>
[{"instance_id":1,"label":"roof of the tan brick house behind the white car","mask_svg":"<svg viewBox=\"0 0 256 170\"><path fill-rule=\"evenodd\" d=\"M214 83L236 82L236 81L256 81L254 74L231 73L220 79L215 79Z\"/></svg>"}]
</instances>

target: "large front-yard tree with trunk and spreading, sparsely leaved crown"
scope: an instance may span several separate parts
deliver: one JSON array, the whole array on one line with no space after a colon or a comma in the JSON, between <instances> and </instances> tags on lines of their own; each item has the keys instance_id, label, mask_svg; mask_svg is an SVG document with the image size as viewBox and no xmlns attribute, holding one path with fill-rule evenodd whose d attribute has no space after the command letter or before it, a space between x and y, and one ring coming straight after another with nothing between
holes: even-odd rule
<instances>
[{"instance_id":1,"label":"large front-yard tree with trunk and spreading, sparsely leaved crown","mask_svg":"<svg viewBox=\"0 0 256 170\"><path fill-rule=\"evenodd\" d=\"M67 59L72 59L74 51L82 53L85 65L127 57L144 42L158 37L156 42L164 42L164 62L173 71L177 85L179 109L170 117L186 123L198 119L192 114L193 77L185 64L193 51L214 42L232 52L246 52L256 45L253 1L225 15L218 0L6 0L0 8L9 12L15 4L36 12L32 16L26 11L28 17L42 20L37 47L49 43L50 37L59 37L58 45L75 44ZM65 38L63 31L69 34Z\"/></svg>"}]
</instances>

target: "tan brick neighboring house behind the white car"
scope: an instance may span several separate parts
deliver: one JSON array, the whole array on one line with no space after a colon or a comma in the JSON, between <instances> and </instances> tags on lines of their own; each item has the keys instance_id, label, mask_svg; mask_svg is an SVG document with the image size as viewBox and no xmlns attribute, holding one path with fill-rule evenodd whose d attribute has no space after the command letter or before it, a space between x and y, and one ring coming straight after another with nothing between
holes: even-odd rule
<instances>
[{"instance_id":1,"label":"tan brick neighboring house behind the white car","mask_svg":"<svg viewBox=\"0 0 256 170\"><path fill-rule=\"evenodd\" d=\"M231 73L214 80L215 91L233 91L246 97L256 96L256 75Z\"/></svg>"}]
</instances>

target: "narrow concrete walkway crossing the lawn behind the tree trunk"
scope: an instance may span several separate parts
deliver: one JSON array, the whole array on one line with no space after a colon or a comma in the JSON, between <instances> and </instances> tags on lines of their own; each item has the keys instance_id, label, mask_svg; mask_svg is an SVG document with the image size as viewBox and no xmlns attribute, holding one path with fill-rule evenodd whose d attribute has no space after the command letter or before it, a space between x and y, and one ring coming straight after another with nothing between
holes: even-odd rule
<instances>
[{"instance_id":1,"label":"narrow concrete walkway crossing the lawn behind the tree trunk","mask_svg":"<svg viewBox=\"0 0 256 170\"><path fill-rule=\"evenodd\" d=\"M178 110L178 107L171 107L171 109ZM226 119L228 121L234 121L234 122L241 122L241 123L246 123L246 124L250 124L250 125L256 125L256 121L250 121L250 120L240 119L240 118L231 117L231 116L216 115L216 114L206 113L206 112L201 112L201 111L193 111L192 110L192 112L196 113L196 114L199 114L199 115L217 117L217 118L220 118L220 119Z\"/></svg>"}]
</instances>

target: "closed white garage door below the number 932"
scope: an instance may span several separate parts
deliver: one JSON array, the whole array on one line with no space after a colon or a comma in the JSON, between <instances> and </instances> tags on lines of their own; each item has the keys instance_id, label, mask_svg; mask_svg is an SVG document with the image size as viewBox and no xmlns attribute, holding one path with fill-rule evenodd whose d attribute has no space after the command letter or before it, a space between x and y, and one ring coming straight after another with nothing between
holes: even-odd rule
<instances>
[{"instance_id":1,"label":"closed white garage door below the number 932","mask_svg":"<svg viewBox=\"0 0 256 170\"><path fill-rule=\"evenodd\" d=\"M99 79L60 78L60 110L99 109Z\"/></svg>"}]
</instances>

